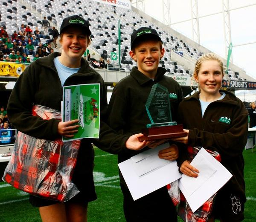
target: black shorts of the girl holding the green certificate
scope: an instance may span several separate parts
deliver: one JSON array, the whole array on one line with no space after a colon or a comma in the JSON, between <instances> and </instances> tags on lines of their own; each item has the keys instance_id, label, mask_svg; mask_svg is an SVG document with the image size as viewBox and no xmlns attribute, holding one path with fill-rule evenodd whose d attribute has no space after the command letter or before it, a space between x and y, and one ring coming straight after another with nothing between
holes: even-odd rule
<instances>
[{"instance_id":1,"label":"black shorts of the girl holding the green certificate","mask_svg":"<svg viewBox=\"0 0 256 222\"><path fill-rule=\"evenodd\" d=\"M79 149L76 167L73 173L72 181L79 189L79 193L71 198L69 203L84 204L97 199L95 186L93 182L93 160L94 150L92 147L88 147L81 144ZM36 196L29 196L29 202L34 207L44 207L60 203L58 201L48 200Z\"/></svg>"}]
</instances>

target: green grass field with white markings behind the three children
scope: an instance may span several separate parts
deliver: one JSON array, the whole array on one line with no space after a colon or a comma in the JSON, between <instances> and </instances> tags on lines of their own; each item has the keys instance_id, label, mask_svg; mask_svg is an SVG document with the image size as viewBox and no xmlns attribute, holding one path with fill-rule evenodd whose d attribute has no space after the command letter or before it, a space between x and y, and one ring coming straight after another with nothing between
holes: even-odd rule
<instances>
[{"instance_id":1,"label":"green grass field with white markings behind the three children","mask_svg":"<svg viewBox=\"0 0 256 222\"><path fill-rule=\"evenodd\" d=\"M244 150L247 202L244 222L256 222L256 151ZM95 149L95 185L98 199L89 204L88 222L125 222L115 155ZM28 195L0 182L0 222L40 222ZM181 220L179 220L181 222Z\"/></svg>"}]
</instances>

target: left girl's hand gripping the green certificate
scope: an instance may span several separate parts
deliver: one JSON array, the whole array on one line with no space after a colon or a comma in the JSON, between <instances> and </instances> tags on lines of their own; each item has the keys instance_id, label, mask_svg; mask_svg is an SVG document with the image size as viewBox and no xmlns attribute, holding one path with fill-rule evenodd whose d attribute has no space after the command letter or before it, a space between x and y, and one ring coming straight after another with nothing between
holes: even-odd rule
<instances>
[{"instance_id":1,"label":"left girl's hand gripping the green certificate","mask_svg":"<svg viewBox=\"0 0 256 222\"><path fill-rule=\"evenodd\" d=\"M77 133L77 128L79 125L73 125L78 123L78 119L67 121L67 122L59 122L58 123L58 134L65 137L73 137L74 133Z\"/></svg>"}]
</instances>

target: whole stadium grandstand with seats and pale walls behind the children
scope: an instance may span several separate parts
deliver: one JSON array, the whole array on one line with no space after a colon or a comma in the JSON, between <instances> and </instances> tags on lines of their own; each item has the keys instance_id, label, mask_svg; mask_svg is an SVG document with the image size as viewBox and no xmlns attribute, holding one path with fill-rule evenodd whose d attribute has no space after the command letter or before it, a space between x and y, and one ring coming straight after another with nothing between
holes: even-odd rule
<instances>
[{"instance_id":1,"label":"whole stadium grandstand with seats and pale walls behind the children","mask_svg":"<svg viewBox=\"0 0 256 222\"><path fill-rule=\"evenodd\" d=\"M97 61L99 61L100 57L105 60L105 63L108 59L111 61L111 65L108 65L107 70L99 70L105 83L109 86L129 75L131 67L136 65L128 55L130 36L134 29L138 29L141 26L149 26L157 29L159 32L166 49L166 53L160 61L160 66L166 68L166 75L175 78L183 86L184 94L189 92L191 75L196 59L200 55L210 52L210 50L195 41L134 8L131 6L130 1L127 0L111 1L111 3L103 0L1 0L0 4L0 26L3 26L8 37L12 38L14 32L20 35L19 30L22 24L25 27L29 26L33 31L30 36L26 33L24 44L28 43L29 38L33 39L32 34L35 29L40 31L40 35L34 37L33 52L26 55L26 57L29 57L28 60L25 59L23 61L25 67L27 66L27 61L32 62L34 60L38 47L40 48L40 43L42 48L47 49L47 43L52 42L52 27L58 30L63 18L73 14L79 14L79 16L84 17L90 23L92 31L92 44L89 47L90 57L92 58L90 65L97 68ZM42 26L44 16L47 17L50 23L47 33L44 33ZM42 33L43 35L41 35ZM12 41L16 40L13 39ZM23 45L24 49L26 47L26 45ZM53 48L53 51L59 51L59 49ZM47 52L39 55L39 57L44 55L47 55ZM5 76L2 80L8 81L6 78L9 76L6 73L4 74ZM238 66L230 63L227 74L231 89L256 89L255 80L246 75L244 70ZM15 78L9 79L9 81L11 80L15 82ZM13 84L10 83L5 86L7 89L12 89ZM227 86L227 81L224 81L224 86Z\"/></svg>"}]
</instances>

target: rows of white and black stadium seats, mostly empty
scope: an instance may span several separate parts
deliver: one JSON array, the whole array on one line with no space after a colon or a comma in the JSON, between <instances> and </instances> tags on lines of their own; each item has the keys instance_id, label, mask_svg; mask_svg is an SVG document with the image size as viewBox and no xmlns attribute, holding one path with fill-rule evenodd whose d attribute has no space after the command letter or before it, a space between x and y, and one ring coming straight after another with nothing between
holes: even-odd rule
<instances>
[{"instance_id":1,"label":"rows of white and black stadium seats, mostly empty","mask_svg":"<svg viewBox=\"0 0 256 222\"><path fill-rule=\"evenodd\" d=\"M21 23L31 26L34 30L37 26L41 30L42 18L38 16L38 13L47 12L48 20L52 21L52 24L58 28L64 17L68 17L74 14L79 14L88 20L90 23L90 29L92 31L92 47L102 55L104 59L109 58L111 52L116 52L118 49L118 20L121 23L121 66L122 69L129 71L136 63L128 55L130 47L131 33L134 29L138 29L141 26L148 26L154 28L159 33L163 40L166 53L161 60L161 66L165 67L169 73L180 75L192 75L192 71L186 69L181 65L177 65L176 62L170 60L169 52L174 50L179 55L186 55L196 60L202 52L193 48L183 40L179 40L172 33L166 32L163 28L157 27L150 21L143 18L132 10L128 10L121 7L105 6L99 2L94 1L36 1L28 0L30 6L25 6L26 1L6 1L0 0L0 11L2 13L0 25L5 25L6 29L10 32L17 30ZM36 3L36 9L38 13L35 13L35 9L32 7ZM11 12L12 11L12 12ZM5 22L6 24L4 24ZM9 33L11 34L11 33ZM49 38L49 35L46 36ZM229 70L228 75L230 78L239 79L239 73L234 73Z\"/></svg>"}]
</instances>

